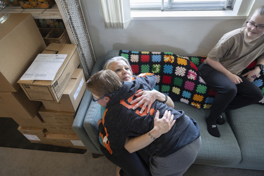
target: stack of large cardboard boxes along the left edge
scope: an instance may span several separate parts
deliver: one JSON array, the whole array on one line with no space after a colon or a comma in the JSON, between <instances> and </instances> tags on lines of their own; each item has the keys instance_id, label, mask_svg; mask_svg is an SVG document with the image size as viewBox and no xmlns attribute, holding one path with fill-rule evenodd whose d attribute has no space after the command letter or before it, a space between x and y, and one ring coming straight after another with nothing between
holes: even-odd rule
<instances>
[{"instance_id":1,"label":"stack of large cardboard boxes along the left edge","mask_svg":"<svg viewBox=\"0 0 264 176\"><path fill-rule=\"evenodd\" d=\"M38 113L42 103L29 100L16 82L46 44L31 14L0 14L0 18L4 19L0 25L0 117L13 118L21 129L43 131ZM41 138L31 139L42 143Z\"/></svg>"}]
</instances>

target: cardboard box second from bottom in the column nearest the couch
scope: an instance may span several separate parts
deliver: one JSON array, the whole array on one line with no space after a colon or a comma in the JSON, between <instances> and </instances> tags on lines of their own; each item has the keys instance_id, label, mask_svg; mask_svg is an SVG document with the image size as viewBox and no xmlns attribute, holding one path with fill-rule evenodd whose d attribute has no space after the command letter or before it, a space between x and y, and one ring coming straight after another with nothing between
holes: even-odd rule
<instances>
[{"instance_id":1,"label":"cardboard box second from bottom in the column nearest the couch","mask_svg":"<svg viewBox=\"0 0 264 176\"><path fill-rule=\"evenodd\" d=\"M44 120L43 125L49 133L76 135L76 133L73 131L72 124L71 125L52 124L52 123L45 123Z\"/></svg>"}]
</instances>

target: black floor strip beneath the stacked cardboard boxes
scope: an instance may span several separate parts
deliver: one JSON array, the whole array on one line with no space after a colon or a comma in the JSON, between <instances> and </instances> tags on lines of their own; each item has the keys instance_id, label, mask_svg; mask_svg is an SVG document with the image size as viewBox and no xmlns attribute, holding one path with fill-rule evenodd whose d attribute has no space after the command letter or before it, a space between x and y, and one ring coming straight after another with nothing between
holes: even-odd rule
<instances>
[{"instance_id":1,"label":"black floor strip beneath the stacked cardboard boxes","mask_svg":"<svg viewBox=\"0 0 264 176\"><path fill-rule=\"evenodd\" d=\"M12 118L0 117L0 147L80 154L86 152L86 150L77 148L31 143L17 130L18 127L19 125Z\"/></svg>"}]
</instances>

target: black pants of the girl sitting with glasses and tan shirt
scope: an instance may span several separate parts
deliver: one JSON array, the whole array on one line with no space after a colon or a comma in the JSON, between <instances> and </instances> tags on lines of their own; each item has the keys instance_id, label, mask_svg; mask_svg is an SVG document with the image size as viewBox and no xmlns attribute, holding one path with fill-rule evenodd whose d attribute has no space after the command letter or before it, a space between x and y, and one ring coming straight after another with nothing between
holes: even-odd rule
<instances>
[{"instance_id":1,"label":"black pants of the girl sitting with glasses and tan shirt","mask_svg":"<svg viewBox=\"0 0 264 176\"><path fill-rule=\"evenodd\" d=\"M233 83L223 73L213 69L208 64L204 64L200 73L206 84L215 92L216 97L211 106L209 117L218 118L223 112L242 108L263 99L263 93L242 75L238 75L243 82Z\"/></svg>"}]
</instances>

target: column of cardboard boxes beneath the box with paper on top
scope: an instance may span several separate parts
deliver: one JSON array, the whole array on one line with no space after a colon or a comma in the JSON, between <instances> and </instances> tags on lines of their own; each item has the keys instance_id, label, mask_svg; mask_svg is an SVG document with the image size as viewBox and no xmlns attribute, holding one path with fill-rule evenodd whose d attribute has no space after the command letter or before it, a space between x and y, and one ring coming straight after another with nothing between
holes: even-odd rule
<instances>
[{"instance_id":1,"label":"column of cardboard boxes beneath the box with paper on top","mask_svg":"<svg viewBox=\"0 0 264 176\"><path fill-rule=\"evenodd\" d=\"M53 145L86 149L72 128L84 91L84 74L77 68L58 102L43 101L38 112L47 129L46 140Z\"/></svg>"}]
</instances>

